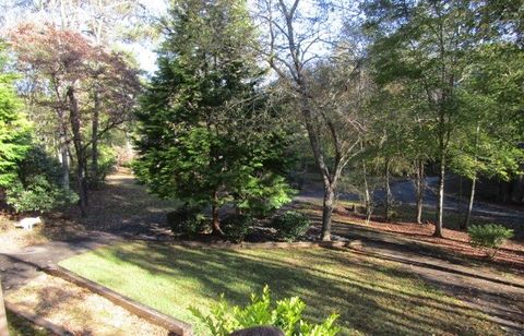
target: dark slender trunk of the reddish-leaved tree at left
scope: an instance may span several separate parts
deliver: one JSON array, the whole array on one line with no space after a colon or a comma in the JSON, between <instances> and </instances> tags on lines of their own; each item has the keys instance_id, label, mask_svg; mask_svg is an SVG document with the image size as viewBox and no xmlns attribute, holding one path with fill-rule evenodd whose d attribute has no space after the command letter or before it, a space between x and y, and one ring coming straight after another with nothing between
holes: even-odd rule
<instances>
[{"instance_id":1,"label":"dark slender trunk of the reddish-leaved tree at left","mask_svg":"<svg viewBox=\"0 0 524 336\"><path fill-rule=\"evenodd\" d=\"M76 97L74 96L73 87L68 88L68 98L70 103L70 121L71 131L73 133L74 152L76 153L76 185L79 188L80 196L80 212L82 216L86 215L87 192L85 190L85 158L82 147L82 134L80 130L80 110Z\"/></svg>"}]
</instances>

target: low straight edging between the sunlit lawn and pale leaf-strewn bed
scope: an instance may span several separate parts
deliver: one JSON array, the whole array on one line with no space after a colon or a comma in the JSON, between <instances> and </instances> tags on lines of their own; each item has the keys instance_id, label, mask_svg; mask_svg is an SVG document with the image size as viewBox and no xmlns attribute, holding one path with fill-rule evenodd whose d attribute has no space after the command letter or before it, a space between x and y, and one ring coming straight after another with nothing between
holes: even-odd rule
<instances>
[{"instance_id":1,"label":"low straight edging between the sunlit lawn and pale leaf-strewn bed","mask_svg":"<svg viewBox=\"0 0 524 336\"><path fill-rule=\"evenodd\" d=\"M160 313L159 311L139 303L131 298L119 295L118 292L98 285L92 280L88 280L75 273L72 273L59 265L51 265L41 268L43 272L59 277L63 280L72 283L76 286L85 288L92 292L95 292L112 303L122 307L127 311L135 314L139 317L144 319L145 321L166 328L169 332L169 335L180 335L180 336L190 336L192 335L192 327L190 324Z\"/></svg>"}]
</instances>

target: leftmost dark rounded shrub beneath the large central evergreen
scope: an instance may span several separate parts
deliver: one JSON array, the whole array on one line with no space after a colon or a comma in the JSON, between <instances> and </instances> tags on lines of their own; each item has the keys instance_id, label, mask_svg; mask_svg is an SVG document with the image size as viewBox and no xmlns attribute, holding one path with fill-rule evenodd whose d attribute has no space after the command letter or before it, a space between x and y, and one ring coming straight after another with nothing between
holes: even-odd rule
<instances>
[{"instance_id":1,"label":"leftmost dark rounded shrub beneath the large central evergreen","mask_svg":"<svg viewBox=\"0 0 524 336\"><path fill-rule=\"evenodd\" d=\"M175 233L194 237L207 228L207 220L200 207L182 206L167 214L167 223Z\"/></svg>"}]
</instances>

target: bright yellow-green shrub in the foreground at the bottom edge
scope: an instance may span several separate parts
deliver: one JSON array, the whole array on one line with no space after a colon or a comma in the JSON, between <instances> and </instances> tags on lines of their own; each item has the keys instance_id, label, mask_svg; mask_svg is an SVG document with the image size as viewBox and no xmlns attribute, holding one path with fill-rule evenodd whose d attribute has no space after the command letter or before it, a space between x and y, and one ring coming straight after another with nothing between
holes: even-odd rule
<instances>
[{"instance_id":1,"label":"bright yellow-green shrub in the foreground at the bottom edge","mask_svg":"<svg viewBox=\"0 0 524 336\"><path fill-rule=\"evenodd\" d=\"M251 295L251 303L245 308L230 307L221 296L221 301L211 307L211 314L190 308L193 315L201 320L212 335L226 336L230 333L257 325L272 325L281 328L286 336L334 336L341 328L334 324L338 317L332 314L321 324L307 322L302 317L306 303L298 297L283 299L275 303L271 300L270 288L264 287L262 296Z\"/></svg>"}]
</instances>

